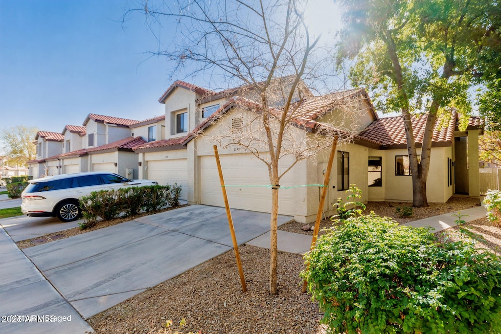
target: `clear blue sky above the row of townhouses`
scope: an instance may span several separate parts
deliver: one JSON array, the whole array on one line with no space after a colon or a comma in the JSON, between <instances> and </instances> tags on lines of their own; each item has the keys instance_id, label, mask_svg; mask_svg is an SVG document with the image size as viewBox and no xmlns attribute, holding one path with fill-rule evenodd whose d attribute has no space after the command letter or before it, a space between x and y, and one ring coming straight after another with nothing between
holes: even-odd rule
<instances>
[{"instance_id":1,"label":"clear blue sky above the row of townhouses","mask_svg":"<svg viewBox=\"0 0 501 334\"><path fill-rule=\"evenodd\" d=\"M0 131L23 124L61 132L89 113L136 120L164 113L158 98L172 83L172 64L146 53L164 46L142 15L122 24L129 1L0 0ZM333 2L313 3L313 28L325 33L336 22L326 9ZM156 33L168 43L175 25L162 24Z\"/></svg>"}]
</instances>

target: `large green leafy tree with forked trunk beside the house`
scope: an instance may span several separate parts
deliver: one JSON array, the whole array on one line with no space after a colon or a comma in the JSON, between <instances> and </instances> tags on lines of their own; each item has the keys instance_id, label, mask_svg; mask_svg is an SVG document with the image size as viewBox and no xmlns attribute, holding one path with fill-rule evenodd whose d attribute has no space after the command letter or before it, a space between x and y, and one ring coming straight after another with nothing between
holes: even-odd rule
<instances>
[{"instance_id":1,"label":"large green leafy tree with forked trunk beside the house","mask_svg":"<svg viewBox=\"0 0 501 334\"><path fill-rule=\"evenodd\" d=\"M499 96L499 6L487 0L338 3L344 21L338 62L351 62L351 80L368 89L379 110L402 114L413 205L427 206L426 180L437 116L448 107L467 115L475 103L491 106L486 96ZM483 100L476 94L478 87L483 89ZM428 113L420 161L411 124L411 115L418 112Z\"/></svg>"}]
</instances>

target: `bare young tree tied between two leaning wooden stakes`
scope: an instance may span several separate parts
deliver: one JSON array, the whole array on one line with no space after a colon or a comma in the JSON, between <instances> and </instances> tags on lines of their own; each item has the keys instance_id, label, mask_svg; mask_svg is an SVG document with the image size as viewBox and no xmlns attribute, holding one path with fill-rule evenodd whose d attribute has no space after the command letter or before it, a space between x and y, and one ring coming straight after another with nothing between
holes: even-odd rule
<instances>
[{"instance_id":1,"label":"bare young tree tied between two leaning wooden stakes","mask_svg":"<svg viewBox=\"0 0 501 334\"><path fill-rule=\"evenodd\" d=\"M329 66L333 58L318 46L320 37L312 38L308 32L304 18L307 5L307 1L300 0L187 0L176 5L145 2L141 8L126 13L141 11L150 19L150 25L165 18L178 20L177 43L156 52L177 61L177 71L210 73L210 79L218 85L243 85L235 91L239 97L226 106L240 111L241 127L235 129L220 110L212 120L219 130L212 136L220 145L243 147L268 167L272 185L272 294L277 293L280 180L298 161L314 160L334 138L350 137L350 126L343 127L343 117L339 117L336 127L315 121L318 115L333 109L341 110L344 119L348 118L345 111L350 110L353 96L313 96L310 88L318 90L314 87L317 84L325 89L334 64ZM284 157L292 157L292 162L281 172L279 161Z\"/></svg>"}]
</instances>

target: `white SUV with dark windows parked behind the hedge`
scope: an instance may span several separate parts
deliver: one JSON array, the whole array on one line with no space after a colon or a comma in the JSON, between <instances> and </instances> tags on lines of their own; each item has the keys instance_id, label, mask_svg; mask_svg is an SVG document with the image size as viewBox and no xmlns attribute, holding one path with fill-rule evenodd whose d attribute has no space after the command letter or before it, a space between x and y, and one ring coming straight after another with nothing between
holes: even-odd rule
<instances>
[{"instance_id":1,"label":"white SUV with dark windows parked behind the hedge","mask_svg":"<svg viewBox=\"0 0 501 334\"><path fill-rule=\"evenodd\" d=\"M29 217L58 217L64 222L80 216L78 198L93 191L158 184L150 180L129 180L106 172L46 176L28 182L21 194L21 211Z\"/></svg>"}]
</instances>

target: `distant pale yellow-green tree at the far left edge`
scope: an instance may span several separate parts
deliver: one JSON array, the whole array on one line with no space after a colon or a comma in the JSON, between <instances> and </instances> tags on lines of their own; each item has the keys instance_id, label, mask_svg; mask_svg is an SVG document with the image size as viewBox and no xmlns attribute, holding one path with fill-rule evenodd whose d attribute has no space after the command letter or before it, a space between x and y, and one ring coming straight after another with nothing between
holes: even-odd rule
<instances>
[{"instance_id":1,"label":"distant pale yellow-green tree at the far left edge","mask_svg":"<svg viewBox=\"0 0 501 334\"><path fill-rule=\"evenodd\" d=\"M11 166L25 166L37 154L37 147L33 140L38 129L24 125L16 125L0 130L3 154L7 157L5 164Z\"/></svg>"}]
</instances>

